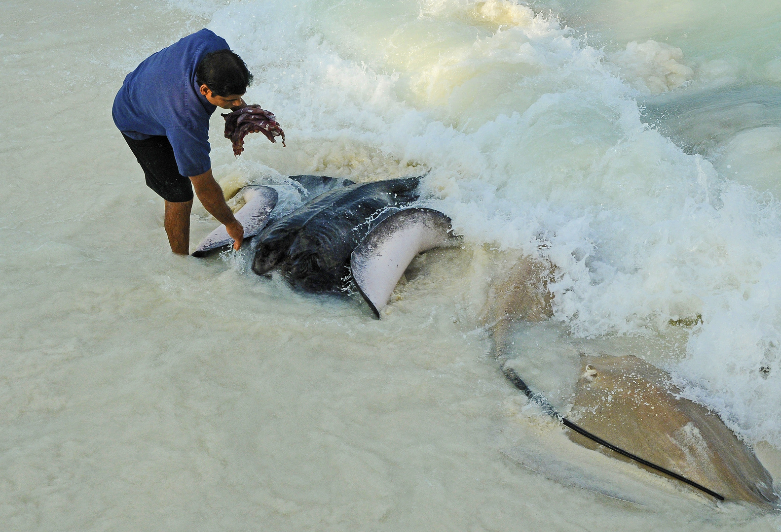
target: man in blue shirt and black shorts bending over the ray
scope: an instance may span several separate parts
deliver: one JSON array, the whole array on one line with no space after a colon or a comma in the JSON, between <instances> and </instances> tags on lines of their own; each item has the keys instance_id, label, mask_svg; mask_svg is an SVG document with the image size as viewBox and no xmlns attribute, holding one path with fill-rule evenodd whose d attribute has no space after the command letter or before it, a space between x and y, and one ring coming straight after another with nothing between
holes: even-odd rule
<instances>
[{"instance_id":1,"label":"man in blue shirt and black shorts bending over the ray","mask_svg":"<svg viewBox=\"0 0 781 532\"><path fill-rule=\"evenodd\" d=\"M244 228L212 176L209 117L235 110L252 83L244 61L222 37L201 30L150 55L125 77L116 94L114 123L144 170L146 183L166 200L165 226L173 253L190 251L193 188L209 213L241 247Z\"/></svg>"}]
</instances>

